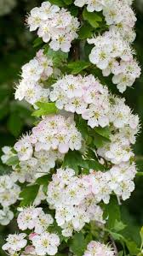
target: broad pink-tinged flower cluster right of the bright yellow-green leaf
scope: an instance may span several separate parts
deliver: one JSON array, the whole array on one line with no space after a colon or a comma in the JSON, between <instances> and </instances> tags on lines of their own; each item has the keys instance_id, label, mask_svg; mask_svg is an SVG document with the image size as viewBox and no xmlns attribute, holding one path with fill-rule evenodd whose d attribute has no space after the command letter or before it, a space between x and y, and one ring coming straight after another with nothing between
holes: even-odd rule
<instances>
[{"instance_id":1,"label":"broad pink-tinged flower cluster right of the bright yellow-green leaf","mask_svg":"<svg viewBox=\"0 0 143 256\"><path fill-rule=\"evenodd\" d=\"M94 75L66 75L53 85L49 98L58 109L81 114L91 128L109 124L109 93Z\"/></svg>"}]
</instances>

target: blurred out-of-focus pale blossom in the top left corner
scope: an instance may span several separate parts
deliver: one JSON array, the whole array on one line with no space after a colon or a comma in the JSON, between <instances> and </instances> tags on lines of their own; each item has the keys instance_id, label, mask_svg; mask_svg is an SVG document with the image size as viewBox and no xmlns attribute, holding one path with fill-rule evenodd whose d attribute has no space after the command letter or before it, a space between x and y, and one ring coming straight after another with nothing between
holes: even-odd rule
<instances>
[{"instance_id":1,"label":"blurred out-of-focus pale blossom in the top left corner","mask_svg":"<svg viewBox=\"0 0 143 256\"><path fill-rule=\"evenodd\" d=\"M8 15L16 5L15 0L1 0L0 1L0 16Z\"/></svg>"}]
</instances>

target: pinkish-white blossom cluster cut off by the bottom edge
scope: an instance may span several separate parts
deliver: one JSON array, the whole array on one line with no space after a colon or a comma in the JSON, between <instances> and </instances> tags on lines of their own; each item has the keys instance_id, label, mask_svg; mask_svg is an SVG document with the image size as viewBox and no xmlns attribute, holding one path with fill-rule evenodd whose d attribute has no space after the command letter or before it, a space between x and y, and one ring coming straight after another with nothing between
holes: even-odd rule
<instances>
[{"instance_id":1,"label":"pinkish-white blossom cluster cut off by the bottom edge","mask_svg":"<svg viewBox=\"0 0 143 256\"><path fill-rule=\"evenodd\" d=\"M115 252L112 247L100 243L99 241L90 241L87 250L83 256L114 256Z\"/></svg>"}]
</instances>

